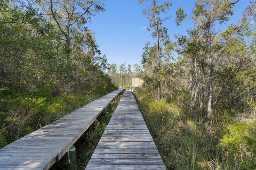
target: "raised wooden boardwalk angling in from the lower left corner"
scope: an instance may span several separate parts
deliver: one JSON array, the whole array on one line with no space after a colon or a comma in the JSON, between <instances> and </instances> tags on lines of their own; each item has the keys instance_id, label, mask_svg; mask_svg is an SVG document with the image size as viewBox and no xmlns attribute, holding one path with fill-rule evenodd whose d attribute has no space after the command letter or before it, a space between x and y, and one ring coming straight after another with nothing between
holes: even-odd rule
<instances>
[{"instance_id":1,"label":"raised wooden boardwalk angling in from the lower left corner","mask_svg":"<svg viewBox=\"0 0 256 170\"><path fill-rule=\"evenodd\" d=\"M60 160L122 88L0 149L1 170L47 170Z\"/></svg>"}]
</instances>

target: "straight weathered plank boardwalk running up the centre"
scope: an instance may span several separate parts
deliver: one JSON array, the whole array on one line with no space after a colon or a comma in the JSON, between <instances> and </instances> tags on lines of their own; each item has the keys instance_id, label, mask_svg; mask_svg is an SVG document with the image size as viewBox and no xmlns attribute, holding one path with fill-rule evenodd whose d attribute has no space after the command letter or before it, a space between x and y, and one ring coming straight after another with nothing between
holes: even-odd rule
<instances>
[{"instance_id":1,"label":"straight weathered plank boardwalk running up the centre","mask_svg":"<svg viewBox=\"0 0 256 170\"><path fill-rule=\"evenodd\" d=\"M132 95L125 91L86 170L166 170Z\"/></svg>"}]
</instances>

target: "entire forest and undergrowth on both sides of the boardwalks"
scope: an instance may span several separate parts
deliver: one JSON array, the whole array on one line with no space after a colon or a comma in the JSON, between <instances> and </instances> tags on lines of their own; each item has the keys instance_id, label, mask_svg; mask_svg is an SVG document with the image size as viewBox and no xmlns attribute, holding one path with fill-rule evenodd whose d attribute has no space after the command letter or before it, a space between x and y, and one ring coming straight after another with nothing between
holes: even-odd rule
<instances>
[{"instance_id":1,"label":"entire forest and undergrowth on both sides of the boardwalks","mask_svg":"<svg viewBox=\"0 0 256 170\"><path fill-rule=\"evenodd\" d=\"M84 26L102 2L0 2L0 147L140 77L134 96L167 169L256 169L256 1L236 23L244 1L197 0L190 16L180 4L176 24L194 27L170 41L171 2L138 0L154 41L134 66L108 64Z\"/></svg>"}]
</instances>

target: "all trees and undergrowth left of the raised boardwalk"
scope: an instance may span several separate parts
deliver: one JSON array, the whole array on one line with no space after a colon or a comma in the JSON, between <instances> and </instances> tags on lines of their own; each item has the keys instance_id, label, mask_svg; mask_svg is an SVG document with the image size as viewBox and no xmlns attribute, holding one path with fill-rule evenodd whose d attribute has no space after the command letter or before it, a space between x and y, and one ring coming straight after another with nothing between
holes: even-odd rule
<instances>
[{"instance_id":1,"label":"all trees and undergrowth left of the raised boardwalk","mask_svg":"<svg viewBox=\"0 0 256 170\"><path fill-rule=\"evenodd\" d=\"M84 16L71 12L68 20L63 17L67 11L56 12L57 20L78 26L66 30L45 15L49 5L44 2L0 2L0 147L116 89L101 70L108 65L106 56L95 56L100 51L94 34L82 29L96 14L91 10L104 11L102 3L53 4L54 10L70 7L69 11L77 3L89 12ZM65 5L58 6L59 2Z\"/></svg>"}]
</instances>

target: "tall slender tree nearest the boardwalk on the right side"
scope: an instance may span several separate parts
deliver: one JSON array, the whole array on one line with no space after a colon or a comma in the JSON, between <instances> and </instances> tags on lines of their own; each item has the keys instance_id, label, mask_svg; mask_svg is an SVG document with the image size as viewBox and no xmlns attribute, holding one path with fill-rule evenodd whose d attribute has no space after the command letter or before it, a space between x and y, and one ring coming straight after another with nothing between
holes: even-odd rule
<instances>
[{"instance_id":1,"label":"tall slender tree nearest the boardwalk on the right side","mask_svg":"<svg viewBox=\"0 0 256 170\"><path fill-rule=\"evenodd\" d=\"M138 3L143 3L145 0L139 0ZM161 14L166 14L172 5L171 2L164 2L163 4L158 5L158 1L152 0L148 9L142 10L142 13L147 16L148 20L150 21L150 29L152 30L152 37L156 38L156 42L154 43L153 47L148 47L150 44L149 42L146 44L144 48L145 52L142 54L142 64L144 66L144 74L146 77L151 77L152 82L149 86L153 86L154 88L154 96L156 101L159 102L162 95L161 95L161 84L164 80L164 73L165 69L162 69L162 58L164 58L164 49L166 46L170 44L169 36L167 34L167 28L162 27L162 23L164 20L161 20ZM163 44L163 45L160 45ZM146 79L144 79L146 80Z\"/></svg>"}]
</instances>

